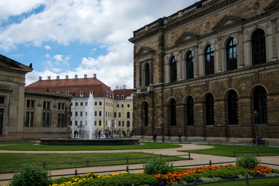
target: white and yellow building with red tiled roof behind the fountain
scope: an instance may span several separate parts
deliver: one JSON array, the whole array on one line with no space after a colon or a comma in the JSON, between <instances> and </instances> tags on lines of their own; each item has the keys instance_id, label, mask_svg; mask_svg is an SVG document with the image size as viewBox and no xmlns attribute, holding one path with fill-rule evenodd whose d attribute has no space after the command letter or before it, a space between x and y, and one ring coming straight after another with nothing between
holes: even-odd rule
<instances>
[{"instance_id":1,"label":"white and yellow building with red tiled roof behind the fountain","mask_svg":"<svg viewBox=\"0 0 279 186\"><path fill-rule=\"evenodd\" d=\"M104 134L105 130L113 130L118 132L120 136L130 134L133 123L133 91L132 89L123 88L111 90L110 87L96 78L87 78L85 74L83 78L69 78L51 80L49 76L47 80L42 80L26 86L27 90L48 91L58 94L73 95L71 100L71 137L75 137L74 131L86 130L87 126L87 101L92 94L94 96L94 124L93 128L96 131L101 131ZM113 121L116 126L111 128L110 123ZM80 136L79 136L80 137Z\"/></svg>"}]
</instances>

